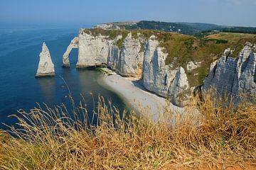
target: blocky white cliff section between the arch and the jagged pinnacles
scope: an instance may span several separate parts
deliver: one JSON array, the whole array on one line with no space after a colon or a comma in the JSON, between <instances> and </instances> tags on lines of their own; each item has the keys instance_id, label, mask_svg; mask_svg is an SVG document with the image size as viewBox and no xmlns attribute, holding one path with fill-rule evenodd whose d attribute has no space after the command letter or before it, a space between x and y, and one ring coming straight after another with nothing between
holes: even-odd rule
<instances>
[{"instance_id":1,"label":"blocky white cliff section between the arch and the jagged pinnacles","mask_svg":"<svg viewBox=\"0 0 256 170\"><path fill-rule=\"evenodd\" d=\"M78 64L77 67L92 67L102 64L114 69L122 76L140 77L144 51L142 38L132 38L129 33L121 49L117 42L122 39L118 35L114 40L105 35L91 35L80 30L78 36Z\"/></svg>"}]
</instances>

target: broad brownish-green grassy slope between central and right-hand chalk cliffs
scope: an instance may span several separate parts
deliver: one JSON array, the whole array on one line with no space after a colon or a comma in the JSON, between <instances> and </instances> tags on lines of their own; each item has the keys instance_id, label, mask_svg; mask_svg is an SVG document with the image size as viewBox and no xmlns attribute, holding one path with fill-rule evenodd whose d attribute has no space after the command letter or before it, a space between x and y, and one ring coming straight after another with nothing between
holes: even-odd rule
<instances>
[{"instance_id":1,"label":"broad brownish-green grassy slope between central and right-hand chalk cliffs","mask_svg":"<svg viewBox=\"0 0 256 170\"><path fill-rule=\"evenodd\" d=\"M243 33L216 33L203 38L166 33L165 37L161 45L169 53L166 64L181 65L186 70L186 64L189 61L201 62L201 67L194 69L193 72L186 70L191 86L203 84L203 80L208 75L210 63L218 60L228 47L234 50L230 57L238 57L245 42L256 43L255 34Z\"/></svg>"}]
</instances>

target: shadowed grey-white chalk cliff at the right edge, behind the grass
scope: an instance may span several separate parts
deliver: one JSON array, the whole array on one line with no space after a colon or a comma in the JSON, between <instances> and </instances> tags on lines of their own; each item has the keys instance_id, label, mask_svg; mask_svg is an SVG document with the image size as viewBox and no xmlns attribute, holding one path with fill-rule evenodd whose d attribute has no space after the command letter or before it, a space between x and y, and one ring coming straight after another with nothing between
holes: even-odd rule
<instances>
[{"instance_id":1,"label":"shadowed grey-white chalk cliff at the right edge, behind the grass","mask_svg":"<svg viewBox=\"0 0 256 170\"><path fill-rule=\"evenodd\" d=\"M223 57L212 64L203 89L216 89L218 94L233 97L235 103L241 93L256 94L256 54L255 45L247 42L238 58L228 57L230 49L225 50ZM214 65L214 67L213 67Z\"/></svg>"}]
</instances>

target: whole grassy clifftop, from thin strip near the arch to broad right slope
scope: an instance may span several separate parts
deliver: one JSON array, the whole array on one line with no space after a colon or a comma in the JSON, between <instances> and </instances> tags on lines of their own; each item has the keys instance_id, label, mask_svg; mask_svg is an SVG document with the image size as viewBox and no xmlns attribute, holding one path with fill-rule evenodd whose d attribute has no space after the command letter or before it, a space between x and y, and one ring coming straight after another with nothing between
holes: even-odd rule
<instances>
[{"instance_id":1,"label":"whole grassy clifftop, from thin strip near the arch to broad right slope","mask_svg":"<svg viewBox=\"0 0 256 170\"><path fill-rule=\"evenodd\" d=\"M85 29L86 33L91 32L92 35L106 35L110 39L114 39L117 35L123 35L122 40L117 42L119 48L129 32L137 38L137 33L141 33L145 39L151 35L156 35L161 42L161 46L165 48L165 52L169 53L166 58L166 64L174 64L174 67L182 66L186 70L188 62L201 62L201 67L194 69L193 72L186 73L190 86L199 86L203 84L209 72L210 63L217 60L230 47L235 50L232 57L238 57L240 50L249 41L256 43L255 34L244 33L216 33L206 35L203 38L196 38L191 35L183 35L177 33L167 33L159 30L101 30L101 29ZM196 74L196 75L195 75Z\"/></svg>"}]
</instances>

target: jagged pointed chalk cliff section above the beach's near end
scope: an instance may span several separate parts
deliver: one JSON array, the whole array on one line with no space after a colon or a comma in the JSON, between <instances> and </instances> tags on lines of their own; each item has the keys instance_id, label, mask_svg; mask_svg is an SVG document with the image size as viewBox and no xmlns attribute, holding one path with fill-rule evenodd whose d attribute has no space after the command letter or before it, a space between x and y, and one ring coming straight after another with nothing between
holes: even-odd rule
<instances>
[{"instance_id":1,"label":"jagged pointed chalk cliff section above the beach's near end","mask_svg":"<svg viewBox=\"0 0 256 170\"><path fill-rule=\"evenodd\" d=\"M163 50L159 47L159 41L152 35L146 44L144 53L144 87L160 96L170 98L177 106L184 106L188 99L187 96L191 94L185 71L182 67L177 69L173 68L172 64L166 65L165 60L168 54Z\"/></svg>"}]
</instances>

